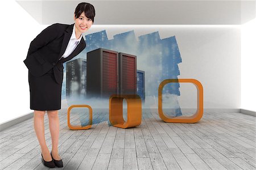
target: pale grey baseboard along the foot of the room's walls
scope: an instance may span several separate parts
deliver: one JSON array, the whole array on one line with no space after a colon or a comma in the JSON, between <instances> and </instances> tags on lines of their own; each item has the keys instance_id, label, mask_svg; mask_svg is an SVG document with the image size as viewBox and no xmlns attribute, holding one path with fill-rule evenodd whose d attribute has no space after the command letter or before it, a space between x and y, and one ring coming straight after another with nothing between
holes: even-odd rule
<instances>
[{"instance_id":1,"label":"pale grey baseboard along the foot of the room's walls","mask_svg":"<svg viewBox=\"0 0 256 170\"><path fill-rule=\"evenodd\" d=\"M65 109L65 108L63 108ZM93 111L98 111L98 112L109 112L108 108L105 109L93 109ZM145 108L143 109L144 112L158 112L158 108ZM196 109L181 109L182 112L184 113L195 113ZM254 111L247 111L245 109L204 109L204 113L243 113L243 114L248 114L250 116L256 117L256 112ZM10 128L13 125L19 124L20 122L23 122L25 120L28 120L29 118L32 118L34 116L34 112L25 114L23 116L14 118L13 120L3 122L0 124L0 131L3 131L7 128Z\"/></svg>"}]
</instances>

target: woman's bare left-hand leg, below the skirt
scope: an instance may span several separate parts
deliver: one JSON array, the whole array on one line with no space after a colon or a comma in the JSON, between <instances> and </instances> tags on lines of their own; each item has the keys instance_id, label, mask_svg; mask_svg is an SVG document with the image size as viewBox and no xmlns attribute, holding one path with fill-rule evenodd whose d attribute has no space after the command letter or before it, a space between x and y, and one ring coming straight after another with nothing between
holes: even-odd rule
<instances>
[{"instance_id":1,"label":"woman's bare left-hand leg, below the skirt","mask_svg":"<svg viewBox=\"0 0 256 170\"><path fill-rule=\"evenodd\" d=\"M41 147L44 160L51 161L51 155L49 154L48 147L46 145L46 138L44 137L44 114L46 111L34 111L34 128L36 137Z\"/></svg>"}]
</instances>

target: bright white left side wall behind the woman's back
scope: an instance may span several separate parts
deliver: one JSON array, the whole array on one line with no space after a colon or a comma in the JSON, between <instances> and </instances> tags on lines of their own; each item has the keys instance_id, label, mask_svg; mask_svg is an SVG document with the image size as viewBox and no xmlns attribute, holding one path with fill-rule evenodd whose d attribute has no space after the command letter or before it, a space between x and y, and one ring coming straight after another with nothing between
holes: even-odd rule
<instances>
[{"instance_id":1,"label":"bright white left side wall behind the woman's back","mask_svg":"<svg viewBox=\"0 0 256 170\"><path fill-rule=\"evenodd\" d=\"M39 25L15 1L0 1L1 17L1 117L2 122L30 110L28 71L23 60L30 42L46 25Z\"/></svg>"}]
</instances>

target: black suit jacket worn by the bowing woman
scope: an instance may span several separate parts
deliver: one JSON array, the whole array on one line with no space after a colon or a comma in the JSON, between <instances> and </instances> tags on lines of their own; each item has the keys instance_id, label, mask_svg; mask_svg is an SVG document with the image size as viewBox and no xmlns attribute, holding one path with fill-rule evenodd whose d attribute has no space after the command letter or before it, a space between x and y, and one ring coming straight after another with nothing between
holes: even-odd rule
<instances>
[{"instance_id":1,"label":"black suit jacket worn by the bowing woman","mask_svg":"<svg viewBox=\"0 0 256 170\"><path fill-rule=\"evenodd\" d=\"M31 41L27 58L23 62L32 75L42 76L53 68L56 82L62 83L63 63L77 56L86 46L82 37L76 49L68 57L60 59L68 46L74 24L49 25Z\"/></svg>"}]
</instances>

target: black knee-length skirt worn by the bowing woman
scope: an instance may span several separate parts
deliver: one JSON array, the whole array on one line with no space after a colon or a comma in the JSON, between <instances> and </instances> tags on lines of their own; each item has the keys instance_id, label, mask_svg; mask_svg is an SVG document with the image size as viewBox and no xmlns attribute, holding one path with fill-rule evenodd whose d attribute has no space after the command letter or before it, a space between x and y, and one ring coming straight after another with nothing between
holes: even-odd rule
<instances>
[{"instance_id":1,"label":"black knee-length skirt worn by the bowing woman","mask_svg":"<svg viewBox=\"0 0 256 170\"><path fill-rule=\"evenodd\" d=\"M34 76L28 71L30 86L30 109L53 111L61 109L61 84L55 80L53 69L43 76Z\"/></svg>"}]
</instances>

